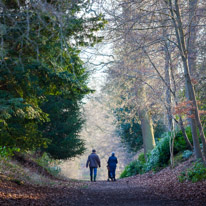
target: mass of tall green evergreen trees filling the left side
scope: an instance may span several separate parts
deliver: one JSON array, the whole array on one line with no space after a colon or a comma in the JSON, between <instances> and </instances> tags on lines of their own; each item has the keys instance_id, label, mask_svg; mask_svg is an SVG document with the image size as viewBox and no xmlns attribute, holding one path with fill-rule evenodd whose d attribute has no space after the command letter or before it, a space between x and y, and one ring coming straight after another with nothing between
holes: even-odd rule
<instances>
[{"instance_id":1,"label":"mass of tall green evergreen trees filling the left side","mask_svg":"<svg viewBox=\"0 0 206 206\"><path fill-rule=\"evenodd\" d=\"M81 154L81 100L91 92L79 58L104 27L88 1L0 2L0 145L54 158ZM57 149L58 148L58 149Z\"/></svg>"}]
</instances>

